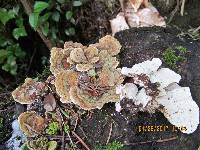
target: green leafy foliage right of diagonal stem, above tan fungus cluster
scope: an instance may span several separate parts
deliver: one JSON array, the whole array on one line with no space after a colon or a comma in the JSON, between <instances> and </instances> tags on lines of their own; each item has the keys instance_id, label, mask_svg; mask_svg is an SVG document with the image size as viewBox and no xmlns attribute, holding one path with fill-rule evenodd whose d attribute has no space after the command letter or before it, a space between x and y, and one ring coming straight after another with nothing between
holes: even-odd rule
<instances>
[{"instance_id":1,"label":"green leafy foliage right of diagonal stem, above tan fungus cluster","mask_svg":"<svg viewBox=\"0 0 200 150\"><path fill-rule=\"evenodd\" d=\"M63 44L61 39L75 35L74 14L76 8L81 5L80 0L35 1L33 12L29 15L29 23L34 30L41 28L42 33L53 43Z\"/></svg>"}]
</instances>

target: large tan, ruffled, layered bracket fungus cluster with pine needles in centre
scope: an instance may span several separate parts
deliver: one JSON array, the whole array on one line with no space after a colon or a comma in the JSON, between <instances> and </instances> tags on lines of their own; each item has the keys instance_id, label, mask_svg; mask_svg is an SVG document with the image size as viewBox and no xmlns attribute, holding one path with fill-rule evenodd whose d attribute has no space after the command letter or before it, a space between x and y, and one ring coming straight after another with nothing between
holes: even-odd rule
<instances>
[{"instance_id":1,"label":"large tan, ruffled, layered bracket fungus cluster with pine needles in centre","mask_svg":"<svg viewBox=\"0 0 200 150\"><path fill-rule=\"evenodd\" d=\"M50 58L50 70L55 75L61 102L73 102L90 110L119 101L115 88L123 82L123 76L115 57L121 49L118 40L107 35L88 47L67 43L64 49L53 48Z\"/></svg>"}]
</instances>

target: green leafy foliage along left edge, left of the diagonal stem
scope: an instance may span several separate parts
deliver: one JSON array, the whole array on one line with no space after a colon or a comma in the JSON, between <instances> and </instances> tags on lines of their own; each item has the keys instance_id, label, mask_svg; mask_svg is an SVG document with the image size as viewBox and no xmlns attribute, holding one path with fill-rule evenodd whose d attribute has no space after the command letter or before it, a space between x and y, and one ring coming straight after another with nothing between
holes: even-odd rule
<instances>
[{"instance_id":1,"label":"green leafy foliage along left edge, left of the diagonal stem","mask_svg":"<svg viewBox=\"0 0 200 150\"><path fill-rule=\"evenodd\" d=\"M18 5L12 9L0 8L0 65L12 75L17 74L17 62L25 56L18 43L20 37L27 36L19 9ZM16 28L7 28L10 20L15 22Z\"/></svg>"}]
</instances>

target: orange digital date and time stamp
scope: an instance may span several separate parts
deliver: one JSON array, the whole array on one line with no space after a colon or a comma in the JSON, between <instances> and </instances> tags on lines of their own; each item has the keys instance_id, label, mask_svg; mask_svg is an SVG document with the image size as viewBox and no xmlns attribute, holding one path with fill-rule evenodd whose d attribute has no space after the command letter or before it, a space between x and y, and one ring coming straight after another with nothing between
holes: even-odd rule
<instances>
[{"instance_id":1,"label":"orange digital date and time stamp","mask_svg":"<svg viewBox=\"0 0 200 150\"><path fill-rule=\"evenodd\" d=\"M186 127L176 127L173 125L139 125L137 128L138 132L177 132L179 130L186 131Z\"/></svg>"}]
</instances>

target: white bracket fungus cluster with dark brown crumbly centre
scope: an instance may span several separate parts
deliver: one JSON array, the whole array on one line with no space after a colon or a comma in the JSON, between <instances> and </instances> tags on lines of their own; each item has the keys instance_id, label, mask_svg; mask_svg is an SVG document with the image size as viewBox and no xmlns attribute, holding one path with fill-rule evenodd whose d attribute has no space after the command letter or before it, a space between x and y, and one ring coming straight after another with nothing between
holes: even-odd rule
<instances>
[{"instance_id":1,"label":"white bracket fungus cluster with dark brown crumbly centre","mask_svg":"<svg viewBox=\"0 0 200 150\"><path fill-rule=\"evenodd\" d=\"M116 93L121 95L121 101L129 99L141 111L161 111L171 124L185 129L181 132L192 133L199 123L199 107L189 87L178 85L181 76L168 68L160 68L161 64L160 59L153 58L132 68L123 67L121 73L129 80L120 85ZM122 109L120 102L116 103L116 111Z\"/></svg>"}]
</instances>

